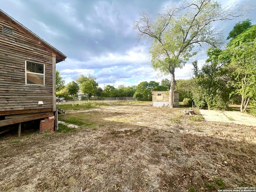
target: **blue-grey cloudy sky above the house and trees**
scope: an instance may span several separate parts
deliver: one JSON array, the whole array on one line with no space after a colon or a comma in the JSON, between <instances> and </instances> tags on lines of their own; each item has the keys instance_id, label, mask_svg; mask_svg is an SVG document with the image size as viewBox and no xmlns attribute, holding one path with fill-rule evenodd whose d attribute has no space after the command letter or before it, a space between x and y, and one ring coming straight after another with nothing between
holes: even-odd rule
<instances>
[{"instance_id":1,"label":"blue-grey cloudy sky above the house and trees","mask_svg":"<svg viewBox=\"0 0 256 192\"><path fill-rule=\"evenodd\" d=\"M1 0L0 8L26 28L54 46L68 58L57 64L66 81L76 80L80 74L96 77L99 86L110 84L132 86L142 81L161 82L151 66L150 41L137 44L137 32L132 30L132 20L142 11L154 17L166 5L179 0ZM225 4L242 2L250 7L255 0L221 0ZM239 21L252 20L256 24L256 10L244 18L218 24L225 38ZM206 48L207 49L207 48ZM206 50L205 49L205 50ZM203 64L204 49L192 60ZM175 72L176 79L191 77L190 62Z\"/></svg>"}]
</instances>

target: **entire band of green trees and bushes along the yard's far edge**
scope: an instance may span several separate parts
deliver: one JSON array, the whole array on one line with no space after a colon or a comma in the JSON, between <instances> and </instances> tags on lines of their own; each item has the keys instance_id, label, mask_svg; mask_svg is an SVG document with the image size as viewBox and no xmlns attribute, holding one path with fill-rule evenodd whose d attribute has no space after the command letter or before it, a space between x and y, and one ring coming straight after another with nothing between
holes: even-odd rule
<instances>
[{"instance_id":1,"label":"entire band of green trees and bushes along the yard's far edge","mask_svg":"<svg viewBox=\"0 0 256 192\"><path fill-rule=\"evenodd\" d=\"M256 114L256 25L247 19L238 22L228 35L228 44L223 48L210 47L202 68L192 62L194 77L175 81L174 90L180 92L180 101L193 101L198 108L225 110L229 104L240 104L240 111ZM98 87L92 75L80 77L64 86L60 72L56 71L56 95L75 96L78 90L88 95L102 97L134 97L140 101L151 101L152 91L170 90L172 82L141 82L137 86L107 85Z\"/></svg>"}]
</instances>

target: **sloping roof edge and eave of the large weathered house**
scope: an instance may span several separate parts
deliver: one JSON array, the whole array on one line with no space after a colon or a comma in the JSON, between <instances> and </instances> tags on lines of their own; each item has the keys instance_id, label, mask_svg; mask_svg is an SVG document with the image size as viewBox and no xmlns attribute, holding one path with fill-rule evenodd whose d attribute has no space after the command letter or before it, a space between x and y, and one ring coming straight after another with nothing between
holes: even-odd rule
<instances>
[{"instance_id":1,"label":"sloping roof edge and eave of the large weathered house","mask_svg":"<svg viewBox=\"0 0 256 192\"><path fill-rule=\"evenodd\" d=\"M56 63L64 61L67 56L64 55L62 52L60 52L59 50L57 50L56 48L54 48L53 46L51 46L50 44L48 44L45 40L43 40L42 38L40 38L39 36L37 36L36 34L34 34L32 31L30 31L28 28L26 28L25 26L23 26L22 24L20 24L18 21L16 21L14 18L12 18L11 16L9 16L8 14L6 14L3 10L0 9L0 15L4 18L7 18L8 20L10 20L10 24L15 24L18 27L22 28L23 30L25 30L26 32L28 32L32 37L34 37L36 40L39 40L40 42L42 42L45 46L47 46L48 48L50 48L51 50L53 50L56 53Z\"/></svg>"}]
</instances>

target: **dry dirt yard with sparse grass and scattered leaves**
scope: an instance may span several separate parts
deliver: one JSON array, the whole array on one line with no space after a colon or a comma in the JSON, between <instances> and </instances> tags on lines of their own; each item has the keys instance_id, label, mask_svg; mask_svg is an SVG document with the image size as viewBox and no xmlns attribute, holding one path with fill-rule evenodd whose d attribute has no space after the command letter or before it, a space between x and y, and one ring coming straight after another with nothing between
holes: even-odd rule
<instances>
[{"instance_id":1,"label":"dry dirt yard with sparse grass and scattered leaves","mask_svg":"<svg viewBox=\"0 0 256 192\"><path fill-rule=\"evenodd\" d=\"M149 103L75 109L59 116L73 132L0 136L0 191L256 190L256 126Z\"/></svg>"}]
</instances>

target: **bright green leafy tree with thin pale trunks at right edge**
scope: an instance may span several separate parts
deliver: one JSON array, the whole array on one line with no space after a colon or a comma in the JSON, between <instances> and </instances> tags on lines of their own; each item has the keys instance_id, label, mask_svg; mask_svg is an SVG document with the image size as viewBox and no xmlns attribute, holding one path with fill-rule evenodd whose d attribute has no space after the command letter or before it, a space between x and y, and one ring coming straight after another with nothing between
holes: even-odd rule
<instances>
[{"instance_id":1,"label":"bright green leafy tree with thin pale trunks at right edge","mask_svg":"<svg viewBox=\"0 0 256 192\"><path fill-rule=\"evenodd\" d=\"M250 20L245 22L250 24ZM243 22L243 23L245 23ZM238 23L232 31L238 30ZM246 26L248 26L246 25ZM240 32L241 30L239 30ZM240 111L245 111L250 100L256 99L256 25L250 26L236 35L227 45L223 54L229 54L228 69L232 72L231 86L236 89L233 94L242 98ZM252 102L254 103L254 102Z\"/></svg>"}]
</instances>

